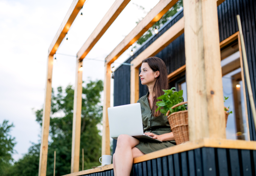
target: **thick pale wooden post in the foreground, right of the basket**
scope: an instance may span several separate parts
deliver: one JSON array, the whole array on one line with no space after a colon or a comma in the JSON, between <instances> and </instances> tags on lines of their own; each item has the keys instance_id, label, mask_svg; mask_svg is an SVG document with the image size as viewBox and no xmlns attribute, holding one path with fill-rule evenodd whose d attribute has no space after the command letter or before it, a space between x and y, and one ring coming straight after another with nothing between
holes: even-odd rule
<instances>
[{"instance_id":1,"label":"thick pale wooden post in the foreground, right of the basket","mask_svg":"<svg viewBox=\"0 0 256 176\"><path fill-rule=\"evenodd\" d=\"M183 0L189 140L226 138L216 0Z\"/></svg>"}]
</instances>

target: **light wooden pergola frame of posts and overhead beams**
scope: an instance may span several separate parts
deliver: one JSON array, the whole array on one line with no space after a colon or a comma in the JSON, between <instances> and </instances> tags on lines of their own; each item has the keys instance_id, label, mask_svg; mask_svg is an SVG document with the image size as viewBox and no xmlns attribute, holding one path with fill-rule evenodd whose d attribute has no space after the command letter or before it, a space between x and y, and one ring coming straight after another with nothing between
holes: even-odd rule
<instances>
[{"instance_id":1,"label":"light wooden pergola frame of posts and overhead beams","mask_svg":"<svg viewBox=\"0 0 256 176\"><path fill-rule=\"evenodd\" d=\"M110 155L110 135L108 125L108 111L110 107L111 90L111 63L135 43L151 26L177 3L178 0L160 0L159 3L138 23L138 25L122 40L119 45L105 59L104 104L103 104L103 131L102 155ZM47 151L49 136L49 119L51 111L52 92L52 65L53 55L61 41L67 34L85 0L73 0L61 27L52 41L48 53L47 79L45 89L44 114L42 124L42 139L40 150L39 176L46 176ZM79 171L80 131L81 131L81 94L82 71L79 71L83 59L93 46L99 41L109 26L118 17L130 0L116 0L105 14L99 25L77 53L76 83L73 111L73 136L71 173ZM131 64L131 103L139 99L139 68L143 59L154 56L181 34L185 33L186 65L183 65L168 77L172 78L186 70L187 97L189 102L189 140L190 143L174 147L172 152L181 152L191 148L216 147L222 148L249 148L256 150L256 142L241 140L227 140L224 125L224 102L222 92L221 54L220 45L226 45L230 40L219 41L217 6L224 0L183 0L184 17L169 28L148 48L139 54ZM237 38L239 37L236 34ZM234 38L234 37L233 37ZM231 39L233 40L233 39ZM198 108L200 107L200 108ZM167 152L168 153L168 152ZM134 159L134 162L161 157L162 152L147 154ZM113 168L113 166L111 166ZM110 169L109 167L108 169ZM105 168L105 167L104 167ZM107 169L107 168L106 168ZM99 169L98 169L99 170ZM99 170L100 171L100 170ZM83 174L88 173L84 172ZM82 174L82 173L81 173ZM73 174L74 175L74 174ZM75 174L76 175L76 174Z\"/></svg>"}]
</instances>

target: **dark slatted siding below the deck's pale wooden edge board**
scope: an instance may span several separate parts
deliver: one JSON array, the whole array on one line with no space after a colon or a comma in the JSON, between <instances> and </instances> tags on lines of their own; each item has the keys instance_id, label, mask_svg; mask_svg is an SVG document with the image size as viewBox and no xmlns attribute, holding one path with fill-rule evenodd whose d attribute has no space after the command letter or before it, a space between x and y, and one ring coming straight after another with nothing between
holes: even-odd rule
<instances>
[{"instance_id":1,"label":"dark slatted siding below the deck's pale wooden edge board","mask_svg":"<svg viewBox=\"0 0 256 176\"><path fill-rule=\"evenodd\" d=\"M256 150L197 148L136 163L131 176L255 176ZM113 170L83 176L114 176Z\"/></svg>"}]
</instances>

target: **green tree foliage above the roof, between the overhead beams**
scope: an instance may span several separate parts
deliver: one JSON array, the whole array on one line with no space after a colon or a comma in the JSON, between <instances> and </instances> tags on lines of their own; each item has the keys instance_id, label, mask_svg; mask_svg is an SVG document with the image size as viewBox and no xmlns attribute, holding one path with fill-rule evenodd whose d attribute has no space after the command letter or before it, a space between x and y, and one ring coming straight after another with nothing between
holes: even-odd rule
<instances>
[{"instance_id":1,"label":"green tree foliage above the roof, between the overhead beams","mask_svg":"<svg viewBox=\"0 0 256 176\"><path fill-rule=\"evenodd\" d=\"M183 0L179 0L169 11L166 12L166 14L163 15L163 17L158 20L151 28L148 29L143 36L141 36L137 40L137 44L142 45L146 40L148 40L149 37L151 37L154 34L154 28L161 28L168 20L172 18L173 15L175 15L180 8L183 7ZM136 23L139 23L140 21L137 21ZM135 46L134 46L135 48Z\"/></svg>"}]
</instances>

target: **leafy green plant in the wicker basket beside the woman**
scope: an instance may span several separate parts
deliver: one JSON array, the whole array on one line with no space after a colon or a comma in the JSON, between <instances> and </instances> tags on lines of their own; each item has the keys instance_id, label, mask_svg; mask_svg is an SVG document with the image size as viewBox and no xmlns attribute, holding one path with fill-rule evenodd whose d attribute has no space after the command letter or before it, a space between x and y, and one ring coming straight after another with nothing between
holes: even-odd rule
<instances>
[{"instance_id":1,"label":"leafy green plant in the wicker basket beside the woman","mask_svg":"<svg viewBox=\"0 0 256 176\"><path fill-rule=\"evenodd\" d=\"M163 90L165 93L158 97L157 99L161 99L162 101L157 102L157 111L160 111L163 114L166 114L168 110L170 110L171 113L177 112L177 111L185 111L187 110L187 105L180 105L174 109L172 109L172 106L177 105L180 102L183 102L183 90L180 91L173 91L173 89L176 89L175 87L171 88L170 90Z\"/></svg>"}]
</instances>

